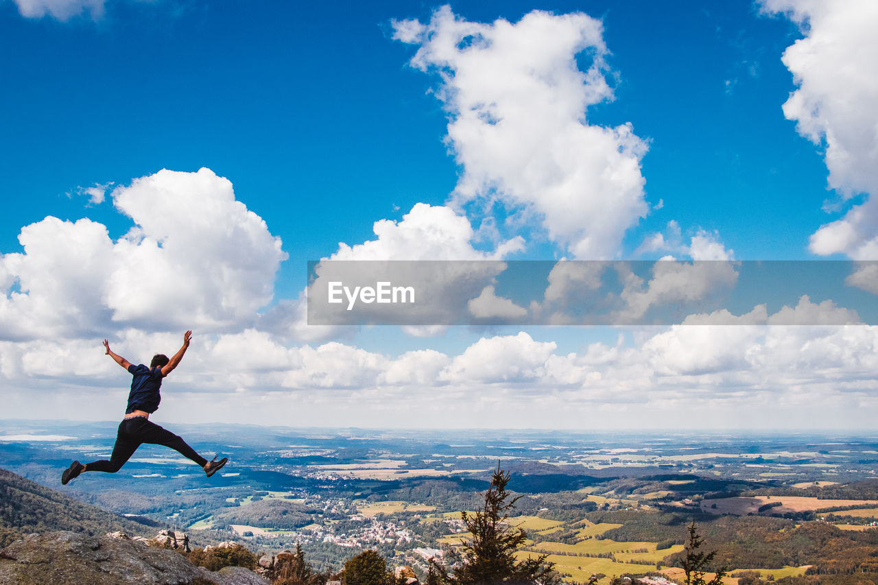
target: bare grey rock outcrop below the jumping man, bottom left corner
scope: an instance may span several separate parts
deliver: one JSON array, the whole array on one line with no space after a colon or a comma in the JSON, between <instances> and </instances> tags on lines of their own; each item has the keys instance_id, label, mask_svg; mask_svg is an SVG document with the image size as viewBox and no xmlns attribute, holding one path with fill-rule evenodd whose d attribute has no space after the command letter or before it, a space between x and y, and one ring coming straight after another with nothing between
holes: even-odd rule
<instances>
[{"instance_id":1,"label":"bare grey rock outcrop below the jumping man, bottom left corner","mask_svg":"<svg viewBox=\"0 0 878 585\"><path fill-rule=\"evenodd\" d=\"M29 534L0 550L0 583L269 585L243 567L212 572L180 553L139 540L66 531Z\"/></svg>"}]
</instances>

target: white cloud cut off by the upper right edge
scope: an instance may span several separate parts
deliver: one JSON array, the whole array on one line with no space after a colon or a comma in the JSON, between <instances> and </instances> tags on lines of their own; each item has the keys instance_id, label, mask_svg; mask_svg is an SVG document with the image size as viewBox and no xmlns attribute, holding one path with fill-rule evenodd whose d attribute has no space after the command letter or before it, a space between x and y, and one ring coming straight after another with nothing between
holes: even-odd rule
<instances>
[{"instance_id":1,"label":"white cloud cut off by the upper right edge","mask_svg":"<svg viewBox=\"0 0 878 585\"><path fill-rule=\"evenodd\" d=\"M829 186L844 199L867 193L846 215L820 227L810 249L878 257L878 4L871 0L762 0L764 11L783 13L804 38L783 54L796 90L783 105L800 134L824 148Z\"/></svg>"}]
</instances>

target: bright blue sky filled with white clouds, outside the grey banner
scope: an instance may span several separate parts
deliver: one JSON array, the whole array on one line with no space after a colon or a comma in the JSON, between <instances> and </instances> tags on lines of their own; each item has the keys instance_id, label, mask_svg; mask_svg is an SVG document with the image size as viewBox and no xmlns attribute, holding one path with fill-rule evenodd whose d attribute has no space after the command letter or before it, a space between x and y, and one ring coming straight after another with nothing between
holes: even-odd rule
<instances>
[{"instance_id":1,"label":"bright blue sky filled with white clouds, outside the grey banner","mask_svg":"<svg viewBox=\"0 0 878 585\"><path fill-rule=\"evenodd\" d=\"M166 420L722 409L759 428L781 403L791 427L868 427L867 326L321 329L301 294L330 256L878 259L876 18L867 1L0 0L11 415L51 395L37 417L112 419L126 379L100 340L138 361L196 329ZM796 308L844 308L817 302ZM118 405L76 399L109 388Z\"/></svg>"}]
</instances>

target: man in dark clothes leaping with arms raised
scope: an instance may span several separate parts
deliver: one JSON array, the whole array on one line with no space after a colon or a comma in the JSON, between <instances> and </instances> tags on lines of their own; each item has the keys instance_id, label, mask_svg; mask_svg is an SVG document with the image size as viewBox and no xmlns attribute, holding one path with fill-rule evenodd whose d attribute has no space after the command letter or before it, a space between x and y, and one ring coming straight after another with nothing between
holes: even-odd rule
<instances>
[{"instance_id":1,"label":"man in dark clothes leaping with arms raised","mask_svg":"<svg viewBox=\"0 0 878 585\"><path fill-rule=\"evenodd\" d=\"M131 458L134 451L137 451L137 448L144 443L163 444L179 451L180 454L198 463L207 473L207 477L217 473L222 466L226 465L227 458L224 457L217 461L217 458L214 457L212 461L208 461L186 444L183 438L149 422L149 415L159 408L159 401L162 400L162 396L159 394L162 378L173 372L180 360L183 359L183 354L189 348L191 336L192 332L186 331L183 336L183 347L172 358L168 359L167 356L156 354L149 367L143 364L133 365L126 358L113 352L110 349L110 342L104 339L106 355L113 358L117 364L133 376L131 393L128 394L128 408L125 411L125 418L119 423L119 433L116 436L116 444L113 445L110 460L102 459L85 465L74 461L64 470L64 473L61 473L61 484L67 485L69 480L87 471L116 473Z\"/></svg>"}]
</instances>

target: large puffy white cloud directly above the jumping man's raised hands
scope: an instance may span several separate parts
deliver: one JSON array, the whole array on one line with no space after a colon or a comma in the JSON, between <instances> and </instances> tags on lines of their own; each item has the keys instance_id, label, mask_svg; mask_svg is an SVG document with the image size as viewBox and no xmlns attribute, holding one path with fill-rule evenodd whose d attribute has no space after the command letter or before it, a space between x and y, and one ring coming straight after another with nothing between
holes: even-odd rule
<instances>
[{"instance_id":1,"label":"large puffy white cloud directly above the jumping man's raised hands","mask_svg":"<svg viewBox=\"0 0 878 585\"><path fill-rule=\"evenodd\" d=\"M118 241L95 221L50 216L22 228L23 252L0 256L7 339L241 328L271 300L286 254L227 179L162 170L112 199L134 222Z\"/></svg>"}]
</instances>

